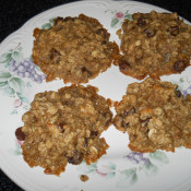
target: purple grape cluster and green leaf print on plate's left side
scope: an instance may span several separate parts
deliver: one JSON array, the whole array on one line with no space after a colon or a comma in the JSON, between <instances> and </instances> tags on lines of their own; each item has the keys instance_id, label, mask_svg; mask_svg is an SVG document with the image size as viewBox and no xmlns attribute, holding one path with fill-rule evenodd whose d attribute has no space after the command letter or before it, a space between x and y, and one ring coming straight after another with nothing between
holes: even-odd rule
<instances>
[{"instance_id":1,"label":"purple grape cluster and green leaf print on plate's left side","mask_svg":"<svg viewBox=\"0 0 191 191\"><path fill-rule=\"evenodd\" d=\"M23 106L28 109L28 99L25 91L32 87L31 82L43 83L45 74L33 63L31 58L23 58L22 47L19 44L14 49L0 56L0 92L14 99L11 115L17 114L17 108ZM24 80L27 79L27 80Z\"/></svg>"}]
</instances>

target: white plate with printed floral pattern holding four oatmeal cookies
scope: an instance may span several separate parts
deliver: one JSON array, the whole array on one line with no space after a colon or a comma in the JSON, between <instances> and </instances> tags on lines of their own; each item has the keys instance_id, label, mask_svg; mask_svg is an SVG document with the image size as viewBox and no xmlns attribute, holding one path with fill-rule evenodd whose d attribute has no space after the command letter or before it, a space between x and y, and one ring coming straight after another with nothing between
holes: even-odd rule
<instances>
[{"instance_id":1,"label":"white plate with printed floral pattern holding four oatmeal cookies","mask_svg":"<svg viewBox=\"0 0 191 191\"><path fill-rule=\"evenodd\" d=\"M50 27L57 16L76 16L84 13L98 19L111 34L110 39L119 44L116 31L124 17L134 12L166 11L157 7L133 1L83 1L64 4L46 11L29 20L21 29L10 35L0 45L0 167L20 187L31 191L186 191L191 188L191 151L183 147L175 153L157 151L153 154L132 153L128 148L128 135L112 126L103 134L110 145L107 155L97 163L86 166L68 165L60 177L45 175L40 167L29 168L23 160L20 143L14 131L23 124L22 115L29 108L34 95L45 89L58 89L62 81L41 82L43 73L35 68L38 82L20 77L10 67L27 61L32 55L33 29ZM33 65L32 65L33 67ZM162 80L178 83L183 94L191 93L191 67L182 74L164 76ZM112 100L120 100L129 83L135 82L124 76L117 67L111 67L89 82L99 88L99 94ZM67 84L69 85L69 84ZM114 108L112 108L114 111ZM114 111L115 112L115 111ZM80 175L87 175L89 180L82 182Z\"/></svg>"}]
</instances>

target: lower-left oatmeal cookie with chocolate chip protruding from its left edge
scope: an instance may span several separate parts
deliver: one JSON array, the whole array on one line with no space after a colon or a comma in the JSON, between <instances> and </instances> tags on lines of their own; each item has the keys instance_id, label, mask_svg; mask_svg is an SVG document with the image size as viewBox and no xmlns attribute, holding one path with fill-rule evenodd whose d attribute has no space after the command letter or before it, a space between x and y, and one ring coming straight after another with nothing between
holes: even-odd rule
<instances>
[{"instance_id":1,"label":"lower-left oatmeal cookie with chocolate chip protruding from its left edge","mask_svg":"<svg viewBox=\"0 0 191 191\"><path fill-rule=\"evenodd\" d=\"M110 100L93 86L69 86L35 95L24 126L15 132L25 162L41 166L45 174L60 175L68 163L96 162L108 144L100 138L111 123Z\"/></svg>"}]
</instances>

